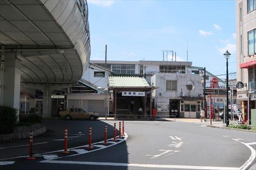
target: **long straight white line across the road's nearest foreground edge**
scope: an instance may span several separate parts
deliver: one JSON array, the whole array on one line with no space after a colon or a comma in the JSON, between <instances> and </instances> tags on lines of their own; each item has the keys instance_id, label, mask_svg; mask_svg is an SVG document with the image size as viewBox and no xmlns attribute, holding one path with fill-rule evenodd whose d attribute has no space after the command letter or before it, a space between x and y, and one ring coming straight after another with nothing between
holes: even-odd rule
<instances>
[{"instance_id":1,"label":"long straight white line across the road's nearest foreground edge","mask_svg":"<svg viewBox=\"0 0 256 170\"><path fill-rule=\"evenodd\" d=\"M42 163L63 163L97 166L133 166L150 168L180 168L180 169L218 169L218 170L239 170L239 167L219 167L219 166L189 166L189 165L161 165L161 164L138 164L138 163L115 163L115 162L82 162L82 161L58 161L44 160Z\"/></svg>"}]
</instances>

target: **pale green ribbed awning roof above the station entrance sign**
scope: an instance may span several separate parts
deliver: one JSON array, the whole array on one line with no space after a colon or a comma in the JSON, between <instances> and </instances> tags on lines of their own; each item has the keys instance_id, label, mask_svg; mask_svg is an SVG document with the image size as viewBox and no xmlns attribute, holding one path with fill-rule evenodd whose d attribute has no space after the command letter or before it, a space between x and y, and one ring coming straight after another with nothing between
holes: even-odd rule
<instances>
[{"instance_id":1,"label":"pale green ribbed awning roof above the station entrance sign","mask_svg":"<svg viewBox=\"0 0 256 170\"><path fill-rule=\"evenodd\" d=\"M109 76L110 88L150 87L144 77Z\"/></svg>"}]
</instances>

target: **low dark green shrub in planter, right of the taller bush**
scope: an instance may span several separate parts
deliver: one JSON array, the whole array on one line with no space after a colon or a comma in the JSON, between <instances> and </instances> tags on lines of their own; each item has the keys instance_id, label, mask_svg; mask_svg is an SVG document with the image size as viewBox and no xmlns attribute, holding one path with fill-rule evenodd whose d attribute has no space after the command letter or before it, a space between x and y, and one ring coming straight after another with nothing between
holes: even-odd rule
<instances>
[{"instance_id":1,"label":"low dark green shrub in planter, right of the taller bush","mask_svg":"<svg viewBox=\"0 0 256 170\"><path fill-rule=\"evenodd\" d=\"M42 117L38 114L19 114L19 125L31 125L42 122Z\"/></svg>"}]
</instances>

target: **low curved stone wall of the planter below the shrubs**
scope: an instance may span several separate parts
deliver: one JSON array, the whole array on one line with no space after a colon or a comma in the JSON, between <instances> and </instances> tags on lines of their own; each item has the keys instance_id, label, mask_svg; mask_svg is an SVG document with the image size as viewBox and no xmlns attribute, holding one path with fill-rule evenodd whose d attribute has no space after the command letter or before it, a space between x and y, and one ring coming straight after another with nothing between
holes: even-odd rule
<instances>
[{"instance_id":1,"label":"low curved stone wall of the planter below the shrubs","mask_svg":"<svg viewBox=\"0 0 256 170\"><path fill-rule=\"evenodd\" d=\"M46 132L46 127L42 126L41 124L15 127L12 133L1 134L0 141L29 138L30 131L33 131L33 136L38 136Z\"/></svg>"}]
</instances>

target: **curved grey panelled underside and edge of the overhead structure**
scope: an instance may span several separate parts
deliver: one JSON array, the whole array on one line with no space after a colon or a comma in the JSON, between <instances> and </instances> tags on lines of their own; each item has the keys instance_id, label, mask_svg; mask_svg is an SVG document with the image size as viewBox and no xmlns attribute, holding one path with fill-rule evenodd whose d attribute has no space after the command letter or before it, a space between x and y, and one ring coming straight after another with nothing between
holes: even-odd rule
<instances>
[{"instance_id":1,"label":"curved grey panelled underside and edge of the overhead structure","mask_svg":"<svg viewBox=\"0 0 256 170\"><path fill-rule=\"evenodd\" d=\"M21 57L21 81L77 83L90 60L86 1L0 1L0 46Z\"/></svg>"}]
</instances>

